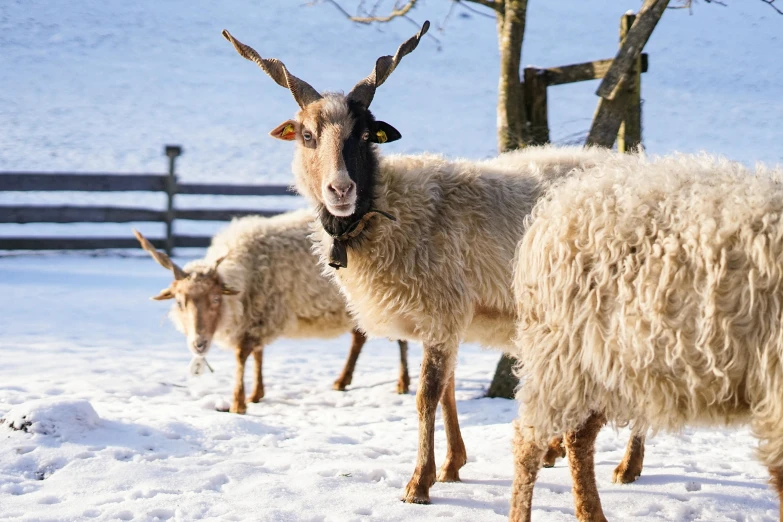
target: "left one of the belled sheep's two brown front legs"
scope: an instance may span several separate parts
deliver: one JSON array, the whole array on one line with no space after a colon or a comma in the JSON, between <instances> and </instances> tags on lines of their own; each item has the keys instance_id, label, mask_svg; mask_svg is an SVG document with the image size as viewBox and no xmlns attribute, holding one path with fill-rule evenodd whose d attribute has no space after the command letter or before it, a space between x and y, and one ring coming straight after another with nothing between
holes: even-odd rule
<instances>
[{"instance_id":1,"label":"left one of the belled sheep's two brown front legs","mask_svg":"<svg viewBox=\"0 0 783 522\"><path fill-rule=\"evenodd\" d=\"M435 412L449 377L454 371L457 343L424 343L416 409L419 412L419 453L416 469L405 488L403 502L430 503L430 487L435 483Z\"/></svg>"}]
</instances>

